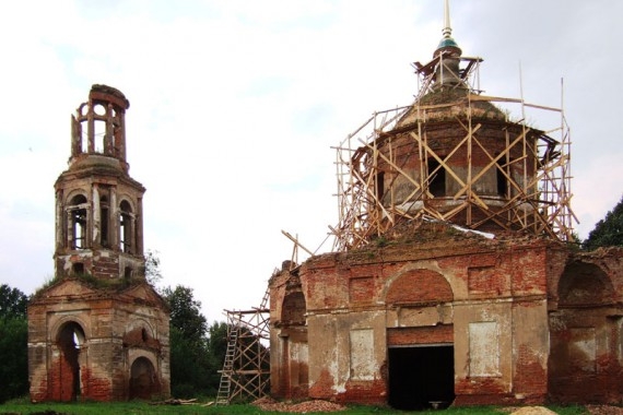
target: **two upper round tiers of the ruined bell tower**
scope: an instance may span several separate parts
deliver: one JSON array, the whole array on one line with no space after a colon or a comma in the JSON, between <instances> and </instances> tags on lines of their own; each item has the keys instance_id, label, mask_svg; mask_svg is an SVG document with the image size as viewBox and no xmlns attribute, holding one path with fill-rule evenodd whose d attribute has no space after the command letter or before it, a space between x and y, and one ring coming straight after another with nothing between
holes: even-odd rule
<instances>
[{"instance_id":1,"label":"two upper round tiers of the ruined bell tower","mask_svg":"<svg viewBox=\"0 0 623 415\"><path fill-rule=\"evenodd\" d=\"M128 174L119 91L93 85L71 118L69 169L56 185L57 275L130 278L143 273L143 193Z\"/></svg>"}]
</instances>

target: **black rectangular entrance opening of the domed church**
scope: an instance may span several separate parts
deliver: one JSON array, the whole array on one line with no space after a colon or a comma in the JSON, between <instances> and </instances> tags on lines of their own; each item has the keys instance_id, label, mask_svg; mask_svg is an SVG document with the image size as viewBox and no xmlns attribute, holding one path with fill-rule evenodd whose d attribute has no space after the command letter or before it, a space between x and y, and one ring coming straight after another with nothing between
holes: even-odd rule
<instances>
[{"instance_id":1,"label":"black rectangular entrance opening of the domed church","mask_svg":"<svg viewBox=\"0 0 623 415\"><path fill-rule=\"evenodd\" d=\"M397 410L445 408L455 399L455 347L390 347L389 405Z\"/></svg>"}]
</instances>

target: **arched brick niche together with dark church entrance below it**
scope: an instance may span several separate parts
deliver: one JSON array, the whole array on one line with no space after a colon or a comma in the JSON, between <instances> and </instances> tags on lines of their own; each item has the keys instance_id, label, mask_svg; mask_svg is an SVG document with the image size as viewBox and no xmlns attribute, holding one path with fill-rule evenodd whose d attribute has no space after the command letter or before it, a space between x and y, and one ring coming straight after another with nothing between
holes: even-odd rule
<instances>
[{"instance_id":1,"label":"arched brick niche together with dark church entrance below it","mask_svg":"<svg viewBox=\"0 0 623 415\"><path fill-rule=\"evenodd\" d=\"M450 284L435 271L411 270L391 282L385 300L398 320L387 329L388 404L447 407L455 399L454 325L444 317L454 300Z\"/></svg>"}]
</instances>

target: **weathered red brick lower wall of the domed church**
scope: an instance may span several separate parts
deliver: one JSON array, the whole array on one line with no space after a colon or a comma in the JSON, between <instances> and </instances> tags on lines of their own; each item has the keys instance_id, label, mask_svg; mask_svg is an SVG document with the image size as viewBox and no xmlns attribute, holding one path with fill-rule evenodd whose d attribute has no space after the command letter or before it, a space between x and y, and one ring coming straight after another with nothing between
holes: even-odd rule
<instances>
[{"instance_id":1,"label":"weathered red brick lower wall of the domed church","mask_svg":"<svg viewBox=\"0 0 623 415\"><path fill-rule=\"evenodd\" d=\"M597 316L587 310L561 315L557 307L559 278L566 264L576 260L602 270L600 278L610 281L612 289L607 299L622 298L623 250L575 253L541 238L489 240L440 226L434 234L402 235L407 241L317 256L301 265L296 278L305 297L307 322L315 333L325 333L321 341L317 335L308 340L314 364L322 366L310 366L310 398L386 399L380 364L375 380L344 380L350 352L343 339L349 330L367 327L374 330L375 347L381 353L390 345L452 343L458 405L537 404L548 399L575 402L583 396L620 402L620 306L612 303L603 308L601 301ZM281 307L287 280L282 274L271 283L271 311ZM595 296L590 298L595 303ZM381 325L377 320L365 322L371 312L385 313ZM465 370L470 361L468 327L480 322L498 328L499 339L492 343L499 355L495 376L472 377ZM569 356L559 351L568 343L561 328L574 324L596 328L596 344L601 346L595 355L595 374L560 369L568 365ZM271 370L275 370L279 356L271 358Z\"/></svg>"}]
</instances>

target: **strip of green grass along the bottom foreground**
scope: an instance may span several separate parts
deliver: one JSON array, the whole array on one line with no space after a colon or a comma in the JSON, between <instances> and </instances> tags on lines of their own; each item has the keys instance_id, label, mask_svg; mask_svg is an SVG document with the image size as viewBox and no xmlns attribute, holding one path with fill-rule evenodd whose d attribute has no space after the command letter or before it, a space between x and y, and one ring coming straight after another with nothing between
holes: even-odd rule
<instances>
[{"instance_id":1,"label":"strip of green grass along the bottom foreground","mask_svg":"<svg viewBox=\"0 0 623 415\"><path fill-rule=\"evenodd\" d=\"M549 407L561 415L584 415L588 414L584 406L561 406ZM349 406L346 411L333 412L331 414L404 414L403 411L396 411L389 407L378 406ZM450 407L444 411L424 411L419 414L437 413L438 415L480 415L497 414L504 412L497 406L478 407ZM439 414L442 413L442 414ZM82 414L284 414L283 412L262 411L257 406L247 404L236 404L228 406L202 406L197 405L155 405L146 402L116 402L116 403L38 403L33 404L27 399L13 400L0 405L0 415L5 414L38 414L38 415L82 415Z\"/></svg>"}]
</instances>

